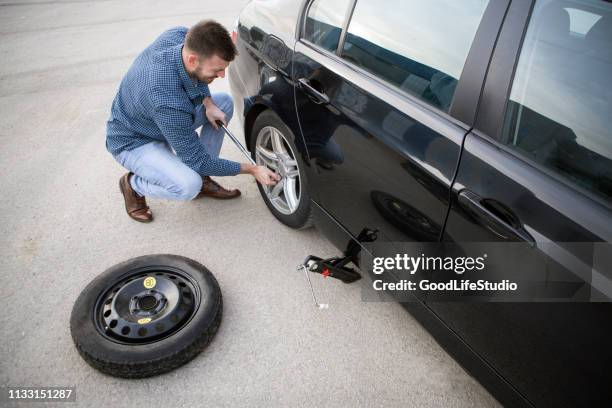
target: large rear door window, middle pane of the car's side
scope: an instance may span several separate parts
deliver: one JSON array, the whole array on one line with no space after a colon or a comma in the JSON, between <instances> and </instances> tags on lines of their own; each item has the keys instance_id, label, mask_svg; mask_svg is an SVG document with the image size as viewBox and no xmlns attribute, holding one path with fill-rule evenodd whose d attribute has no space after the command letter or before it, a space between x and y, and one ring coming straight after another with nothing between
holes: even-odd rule
<instances>
[{"instance_id":1,"label":"large rear door window, middle pane of the car's side","mask_svg":"<svg viewBox=\"0 0 612 408\"><path fill-rule=\"evenodd\" d=\"M448 111L488 0L358 0L342 57Z\"/></svg>"}]
</instances>

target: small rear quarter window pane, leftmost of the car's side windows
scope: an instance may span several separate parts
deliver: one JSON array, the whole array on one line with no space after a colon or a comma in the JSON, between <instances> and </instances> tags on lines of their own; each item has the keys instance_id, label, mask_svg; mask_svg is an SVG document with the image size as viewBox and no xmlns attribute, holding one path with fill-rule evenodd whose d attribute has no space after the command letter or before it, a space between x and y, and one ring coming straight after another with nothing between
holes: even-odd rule
<instances>
[{"instance_id":1,"label":"small rear quarter window pane, leftmost of the car's side windows","mask_svg":"<svg viewBox=\"0 0 612 408\"><path fill-rule=\"evenodd\" d=\"M336 52L342 23L350 0L312 2L306 15L304 38L331 52Z\"/></svg>"}]
</instances>

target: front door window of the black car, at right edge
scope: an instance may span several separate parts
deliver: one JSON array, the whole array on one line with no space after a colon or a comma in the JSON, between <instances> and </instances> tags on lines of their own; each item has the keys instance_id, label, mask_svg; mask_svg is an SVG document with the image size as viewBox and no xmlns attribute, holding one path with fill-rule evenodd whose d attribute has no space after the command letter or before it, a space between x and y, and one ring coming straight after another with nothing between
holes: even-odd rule
<instances>
[{"instance_id":1,"label":"front door window of the black car, at right edge","mask_svg":"<svg viewBox=\"0 0 612 408\"><path fill-rule=\"evenodd\" d=\"M612 202L612 4L538 1L502 141Z\"/></svg>"}]
</instances>

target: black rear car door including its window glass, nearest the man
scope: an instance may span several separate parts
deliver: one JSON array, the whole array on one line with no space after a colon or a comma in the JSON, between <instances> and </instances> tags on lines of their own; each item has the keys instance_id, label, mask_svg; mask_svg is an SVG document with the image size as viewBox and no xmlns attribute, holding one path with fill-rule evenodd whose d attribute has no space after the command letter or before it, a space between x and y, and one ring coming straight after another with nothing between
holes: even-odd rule
<instances>
[{"instance_id":1,"label":"black rear car door including its window glass, nearest the man","mask_svg":"<svg viewBox=\"0 0 612 408\"><path fill-rule=\"evenodd\" d=\"M354 237L379 230L379 241L440 238L507 5L492 3L308 5L292 73L308 179L314 201Z\"/></svg>"}]
</instances>

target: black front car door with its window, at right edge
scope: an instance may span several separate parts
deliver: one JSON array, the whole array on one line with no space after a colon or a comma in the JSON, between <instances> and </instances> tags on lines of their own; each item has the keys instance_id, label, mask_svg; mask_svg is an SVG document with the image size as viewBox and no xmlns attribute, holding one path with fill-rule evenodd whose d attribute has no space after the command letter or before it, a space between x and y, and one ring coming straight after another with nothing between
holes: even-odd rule
<instances>
[{"instance_id":1,"label":"black front car door with its window, at right edge","mask_svg":"<svg viewBox=\"0 0 612 408\"><path fill-rule=\"evenodd\" d=\"M588 300L612 284L612 4L534 3L508 11L444 239L531 241L547 268L530 273L585 290L571 303L428 307L532 404L604 406L612 307Z\"/></svg>"}]
</instances>

